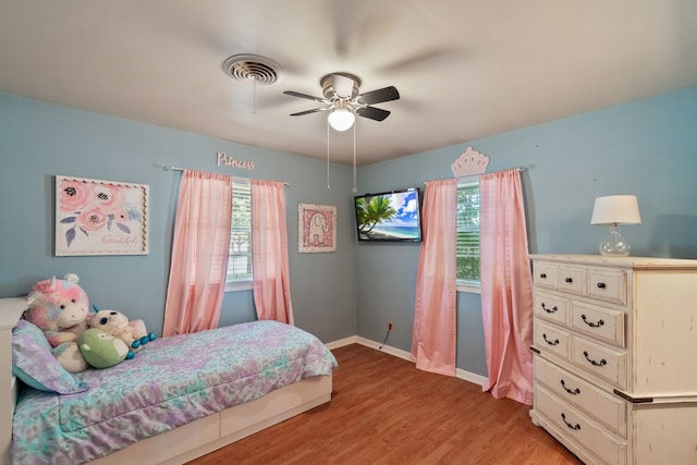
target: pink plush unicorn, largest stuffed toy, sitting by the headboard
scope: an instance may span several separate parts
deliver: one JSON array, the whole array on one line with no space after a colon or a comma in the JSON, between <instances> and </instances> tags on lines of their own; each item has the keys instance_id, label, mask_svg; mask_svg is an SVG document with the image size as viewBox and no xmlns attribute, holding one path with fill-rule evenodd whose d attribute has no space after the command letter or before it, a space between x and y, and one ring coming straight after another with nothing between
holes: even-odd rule
<instances>
[{"instance_id":1,"label":"pink plush unicorn, largest stuffed toy, sitting by the headboard","mask_svg":"<svg viewBox=\"0 0 697 465\"><path fill-rule=\"evenodd\" d=\"M89 298L77 285L75 274L65 279L39 281L27 295L24 319L38 327L51 344L53 356L65 370L83 371L87 362L80 352L77 338L87 329Z\"/></svg>"}]
</instances>

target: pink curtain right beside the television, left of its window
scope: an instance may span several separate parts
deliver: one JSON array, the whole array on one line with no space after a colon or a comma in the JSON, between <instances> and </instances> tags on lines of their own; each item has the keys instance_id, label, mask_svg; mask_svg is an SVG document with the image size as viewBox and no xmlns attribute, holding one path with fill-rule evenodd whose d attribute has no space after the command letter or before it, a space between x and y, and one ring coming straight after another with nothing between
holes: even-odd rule
<instances>
[{"instance_id":1,"label":"pink curtain right beside the television, left of its window","mask_svg":"<svg viewBox=\"0 0 697 465\"><path fill-rule=\"evenodd\" d=\"M426 183L412 359L416 368L447 376L455 376L456 209L456 180Z\"/></svg>"}]
</instances>

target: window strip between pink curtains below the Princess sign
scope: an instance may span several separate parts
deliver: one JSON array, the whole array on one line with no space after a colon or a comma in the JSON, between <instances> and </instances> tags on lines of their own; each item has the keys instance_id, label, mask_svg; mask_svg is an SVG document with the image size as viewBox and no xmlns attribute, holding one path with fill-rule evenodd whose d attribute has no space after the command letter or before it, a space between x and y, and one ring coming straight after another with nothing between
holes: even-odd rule
<instances>
[{"instance_id":1,"label":"window strip between pink curtains below the Princess sign","mask_svg":"<svg viewBox=\"0 0 697 465\"><path fill-rule=\"evenodd\" d=\"M252 188L232 183L232 222L225 291L249 289L252 281Z\"/></svg>"}]
</instances>

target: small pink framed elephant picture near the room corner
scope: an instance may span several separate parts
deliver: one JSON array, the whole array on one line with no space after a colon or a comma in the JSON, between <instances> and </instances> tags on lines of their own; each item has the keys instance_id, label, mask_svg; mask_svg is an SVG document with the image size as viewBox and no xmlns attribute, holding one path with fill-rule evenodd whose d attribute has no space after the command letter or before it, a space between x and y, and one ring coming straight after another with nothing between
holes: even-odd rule
<instances>
[{"instance_id":1,"label":"small pink framed elephant picture near the room corner","mask_svg":"<svg viewBox=\"0 0 697 465\"><path fill-rule=\"evenodd\" d=\"M297 205L297 252L337 252L337 207Z\"/></svg>"}]
</instances>

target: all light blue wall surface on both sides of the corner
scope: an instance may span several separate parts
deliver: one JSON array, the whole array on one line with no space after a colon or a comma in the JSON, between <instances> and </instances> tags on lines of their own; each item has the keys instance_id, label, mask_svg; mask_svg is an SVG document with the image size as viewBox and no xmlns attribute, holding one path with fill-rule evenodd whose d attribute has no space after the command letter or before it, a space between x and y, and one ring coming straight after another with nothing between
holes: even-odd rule
<instances>
[{"instance_id":1,"label":"all light blue wall surface on both sides of the corner","mask_svg":"<svg viewBox=\"0 0 697 465\"><path fill-rule=\"evenodd\" d=\"M489 171L530 167L523 183L530 250L591 253L606 233L589 225L595 197L636 194L643 224L623 231L634 255L697 258L697 87L358 170L358 193L451 178L468 147ZM252 160L254 171L215 167L218 150ZM0 94L0 296L22 295L68 271L101 307L161 330L178 174L181 166L288 181L291 286L296 322L334 341L358 334L411 350L418 244L357 244L352 173L326 164L181 131ZM150 253L124 257L53 256L53 176L66 174L150 186ZM338 207L338 252L297 254L298 203ZM457 366L486 375L478 295L458 294ZM229 293L222 323L254 318L250 292Z\"/></svg>"}]
</instances>

